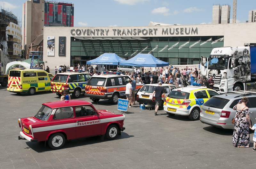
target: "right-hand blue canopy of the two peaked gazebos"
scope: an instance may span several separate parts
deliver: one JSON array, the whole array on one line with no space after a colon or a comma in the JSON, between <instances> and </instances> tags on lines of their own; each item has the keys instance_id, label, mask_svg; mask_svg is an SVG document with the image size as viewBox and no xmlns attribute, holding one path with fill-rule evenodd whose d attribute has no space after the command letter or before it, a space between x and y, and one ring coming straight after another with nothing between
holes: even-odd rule
<instances>
[{"instance_id":1,"label":"right-hand blue canopy of the two peaked gazebos","mask_svg":"<svg viewBox=\"0 0 256 169\"><path fill-rule=\"evenodd\" d=\"M138 67L163 67L169 66L169 63L156 59L152 54L139 53L129 60L120 62L120 65Z\"/></svg>"}]
</instances>

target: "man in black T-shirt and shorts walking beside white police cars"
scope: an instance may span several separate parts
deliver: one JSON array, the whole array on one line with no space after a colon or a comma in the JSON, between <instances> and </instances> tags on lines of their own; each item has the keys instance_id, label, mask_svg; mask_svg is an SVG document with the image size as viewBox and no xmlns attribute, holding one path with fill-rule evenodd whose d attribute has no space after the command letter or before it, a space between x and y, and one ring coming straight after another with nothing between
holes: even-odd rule
<instances>
[{"instance_id":1,"label":"man in black T-shirt and shorts walking beside white police cars","mask_svg":"<svg viewBox=\"0 0 256 169\"><path fill-rule=\"evenodd\" d=\"M162 82L158 82L158 86L156 86L153 96L155 94L155 100L156 100L156 106L155 106L155 116L157 116L157 110L159 109L159 106L162 104L162 94L164 95L164 100L165 100L165 93L164 93L164 88L162 87ZM152 97L153 100L153 97Z\"/></svg>"}]
</instances>

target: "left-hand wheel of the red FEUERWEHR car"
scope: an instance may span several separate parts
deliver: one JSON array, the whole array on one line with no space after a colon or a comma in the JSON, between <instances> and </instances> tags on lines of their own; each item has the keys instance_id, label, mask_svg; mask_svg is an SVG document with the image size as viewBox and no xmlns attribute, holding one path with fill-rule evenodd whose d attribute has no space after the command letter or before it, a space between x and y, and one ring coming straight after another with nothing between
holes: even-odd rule
<instances>
[{"instance_id":1,"label":"left-hand wheel of the red FEUERWEHR car","mask_svg":"<svg viewBox=\"0 0 256 169\"><path fill-rule=\"evenodd\" d=\"M52 149L59 149L65 144L66 138L62 133L54 133L48 139L48 145Z\"/></svg>"}]
</instances>

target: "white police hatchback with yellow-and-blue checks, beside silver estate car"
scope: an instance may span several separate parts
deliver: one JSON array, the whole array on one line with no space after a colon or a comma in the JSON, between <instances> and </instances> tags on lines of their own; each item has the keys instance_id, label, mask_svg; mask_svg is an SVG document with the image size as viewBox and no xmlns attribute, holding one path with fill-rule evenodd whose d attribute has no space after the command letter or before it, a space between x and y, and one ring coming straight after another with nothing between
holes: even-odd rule
<instances>
[{"instance_id":1,"label":"white police hatchback with yellow-and-blue checks, beside silver estate car","mask_svg":"<svg viewBox=\"0 0 256 169\"><path fill-rule=\"evenodd\" d=\"M219 93L201 86L173 89L166 97L164 111L169 116L178 114L188 116L190 120L198 120L202 105L214 95Z\"/></svg>"}]
</instances>

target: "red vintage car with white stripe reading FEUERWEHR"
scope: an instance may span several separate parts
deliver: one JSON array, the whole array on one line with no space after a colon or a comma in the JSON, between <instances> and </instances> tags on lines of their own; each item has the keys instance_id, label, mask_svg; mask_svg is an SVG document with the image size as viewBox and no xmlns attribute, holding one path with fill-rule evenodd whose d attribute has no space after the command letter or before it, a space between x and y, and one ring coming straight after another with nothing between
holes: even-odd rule
<instances>
[{"instance_id":1,"label":"red vintage car with white stripe reading FEUERWEHR","mask_svg":"<svg viewBox=\"0 0 256 169\"><path fill-rule=\"evenodd\" d=\"M19 119L19 139L31 142L48 141L52 149L59 149L66 139L104 135L114 139L124 131L123 114L96 110L83 100L55 101L42 104L35 116Z\"/></svg>"}]
</instances>

